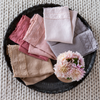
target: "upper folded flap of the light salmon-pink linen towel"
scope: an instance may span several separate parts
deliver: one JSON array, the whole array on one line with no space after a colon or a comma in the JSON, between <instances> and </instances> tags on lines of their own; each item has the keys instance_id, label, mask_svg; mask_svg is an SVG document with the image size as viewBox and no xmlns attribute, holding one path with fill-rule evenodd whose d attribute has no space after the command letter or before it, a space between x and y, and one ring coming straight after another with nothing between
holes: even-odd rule
<instances>
[{"instance_id":1,"label":"upper folded flap of the light salmon-pink linen towel","mask_svg":"<svg viewBox=\"0 0 100 100\"><path fill-rule=\"evenodd\" d=\"M33 46L36 46L44 34L43 18L40 15L35 14L31 18L30 23L26 35L24 36L24 40Z\"/></svg>"}]
</instances>

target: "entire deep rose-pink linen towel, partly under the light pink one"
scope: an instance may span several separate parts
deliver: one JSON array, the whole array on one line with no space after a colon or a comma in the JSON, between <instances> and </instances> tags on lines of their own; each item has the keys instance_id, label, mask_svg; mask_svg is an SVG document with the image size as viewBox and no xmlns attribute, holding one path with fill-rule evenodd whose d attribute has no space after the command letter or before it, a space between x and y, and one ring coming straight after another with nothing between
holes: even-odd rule
<instances>
[{"instance_id":1,"label":"entire deep rose-pink linen towel, partly under the light pink one","mask_svg":"<svg viewBox=\"0 0 100 100\"><path fill-rule=\"evenodd\" d=\"M28 48L29 48L29 43L23 40L23 37L26 34L26 31L28 30L28 27L30 25L30 18L27 17L26 15L23 15L20 19L20 21L18 22L15 30L12 32L12 34L9 36L9 38L14 41L15 43L20 45L20 51L28 54L30 56L36 57L38 59L42 59L47 61L48 58L45 56L41 56L41 55L34 55L34 54L30 54L28 53Z\"/></svg>"}]
</instances>

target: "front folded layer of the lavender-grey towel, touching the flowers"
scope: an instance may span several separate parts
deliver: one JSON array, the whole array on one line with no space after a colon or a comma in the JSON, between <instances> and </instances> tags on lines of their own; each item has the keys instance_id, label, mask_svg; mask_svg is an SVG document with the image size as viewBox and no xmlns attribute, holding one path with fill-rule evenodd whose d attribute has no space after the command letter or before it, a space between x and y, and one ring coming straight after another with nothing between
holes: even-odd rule
<instances>
[{"instance_id":1,"label":"front folded layer of the lavender-grey towel, touching the flowers","mask_svg":"<svg viewBox=\"0 0 100 100\"><path fill-rule=\"evenodd\" d=\"M97 42L93 37L93 33L90 29L77 35L74 38L73 44L67 43L57 43L57 42L48 42L50 48L56 57L65 51L71 50L73 52L79 52L82 56L90 54L97 50Z\"/></svg>"}]
</instances>

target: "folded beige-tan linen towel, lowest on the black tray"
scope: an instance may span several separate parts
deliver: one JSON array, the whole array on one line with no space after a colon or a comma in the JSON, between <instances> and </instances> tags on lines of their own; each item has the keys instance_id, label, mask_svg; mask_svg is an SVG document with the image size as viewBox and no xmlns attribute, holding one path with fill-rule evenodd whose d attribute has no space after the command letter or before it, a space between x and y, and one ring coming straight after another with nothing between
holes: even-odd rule
<instances>
[{"instance_id":1,"label":"folded beige-tan linen towel, lowest on the black tray","mask_svg":"<svg viewBox=\"0 0 100 100\"><path fill-rule=\"evenodd\" d=\"M8 45L13 77L22 78L26 85L32 85L53 74L50 59L49 61L36 59L20 52L18 49L18 45Z\"/></svg>"}]
</instances>

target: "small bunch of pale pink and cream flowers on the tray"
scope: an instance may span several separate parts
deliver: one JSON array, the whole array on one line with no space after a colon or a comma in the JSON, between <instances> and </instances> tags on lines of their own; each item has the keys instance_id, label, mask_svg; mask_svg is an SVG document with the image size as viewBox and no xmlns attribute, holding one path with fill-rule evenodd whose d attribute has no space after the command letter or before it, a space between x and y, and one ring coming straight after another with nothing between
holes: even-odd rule
<instances>
[{"instance_id":1,"label":"small bunch of pale pink and cream flowers on the tray","mask_svg":"<svg viewBox=\"0 0 100 100\"><path fill-rule=\"evenodd\" d=\"M54 65L56 76L72 81L79 81L84 77L84 58L78 52L64 52L57 57Z\"/></svg>"}]
</instances>

